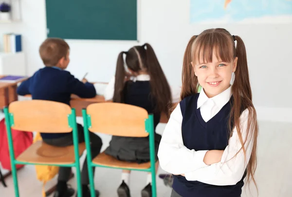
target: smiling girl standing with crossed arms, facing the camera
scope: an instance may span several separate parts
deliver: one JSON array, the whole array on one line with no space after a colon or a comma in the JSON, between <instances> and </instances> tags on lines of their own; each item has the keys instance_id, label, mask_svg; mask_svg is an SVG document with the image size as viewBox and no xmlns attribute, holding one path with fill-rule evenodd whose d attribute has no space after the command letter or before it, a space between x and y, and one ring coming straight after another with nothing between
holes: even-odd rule
<instances>
[{"instance_id":1,"label":"smiling girl standing with crossed arms, facing the camera","mask_svg":"<svg viewBox=\"0 0 292 197\"><path fill-rule=\"evenodd\" d=\"M255 182L258 135L242 39L225 29L193 36L182 81L158 151L174 175L171 197L240 197L243 179Z\"/></svg>"}]
</instances>

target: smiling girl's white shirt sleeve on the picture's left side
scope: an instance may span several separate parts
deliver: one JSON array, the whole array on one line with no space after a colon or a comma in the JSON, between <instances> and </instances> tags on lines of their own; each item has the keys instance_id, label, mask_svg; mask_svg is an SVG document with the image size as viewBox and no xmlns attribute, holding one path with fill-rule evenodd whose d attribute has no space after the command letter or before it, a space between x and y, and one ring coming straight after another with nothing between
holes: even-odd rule
<instances>
[{"instance_id":1,"label":"smiling girl's white shirt sleeve on the picture's left side","mask_svg":"<svg viewBox=\"0 0 292 197\"><path fill-rule=\"evenodd\" d=\"M158 150L160 166L174 175L207 166L203 162L207 150L189 150L183 145L182 121L183 116L179 104L170 115Z\"/></svg>"}]
</instances>

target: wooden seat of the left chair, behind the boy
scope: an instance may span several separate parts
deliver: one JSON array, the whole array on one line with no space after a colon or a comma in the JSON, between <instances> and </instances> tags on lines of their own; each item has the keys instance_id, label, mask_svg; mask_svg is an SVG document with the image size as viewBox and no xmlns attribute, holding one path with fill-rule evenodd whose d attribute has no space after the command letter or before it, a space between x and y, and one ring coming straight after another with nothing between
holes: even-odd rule
<instances>
[{"instance_id":1,"label":"wooden seat of the left chair, behind the boy","mask_svg":"<svg viewBox=\"0 0 292 197\"><path fill-rule=\"evenodd\" d=\"M79 143L79 155L82 155L85 148L85 143ZM74 146L56 147L37 141L21 153L16 160L39 164L71 164L75 162Z\"/></svg>"}]
</instances>

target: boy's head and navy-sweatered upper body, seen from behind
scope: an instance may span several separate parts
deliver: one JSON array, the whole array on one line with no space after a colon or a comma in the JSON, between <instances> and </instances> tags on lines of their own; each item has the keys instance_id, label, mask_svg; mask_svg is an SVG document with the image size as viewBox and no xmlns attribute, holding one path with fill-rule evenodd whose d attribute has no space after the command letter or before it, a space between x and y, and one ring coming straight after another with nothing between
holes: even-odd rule
<instances>
[{"instance_id":1,"label":"boy's head and navy-sweatered upper body, seen from behind","mask_svg":"<svg viewBox=\"0 0 292 197\"><path fill-rule=\"evenodd\" d=\"M69 46L61 39L48 38L39 49L45 67L39 69L28 80L18 87L19 95L31 94L32 99L56 101L70 105L71 94L83 98L96 95L92 84L83 83L76 79L67 68L69 59ZM60 138L70 133L41 133L42 138Z\"/></svg>"}]
</instances>

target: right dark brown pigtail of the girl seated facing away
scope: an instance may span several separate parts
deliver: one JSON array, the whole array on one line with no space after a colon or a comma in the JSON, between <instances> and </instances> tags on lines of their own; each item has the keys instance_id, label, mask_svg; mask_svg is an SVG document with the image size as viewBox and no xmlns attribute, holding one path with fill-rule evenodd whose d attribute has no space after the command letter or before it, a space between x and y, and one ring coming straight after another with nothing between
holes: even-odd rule
<instances>
[{"instance_id":1,"label":"right dark brown pigtail of the girl seated facing away","mask_svg":"<svg viewBox=\"0 0 292 197\"><path fill-rule=\"evenodd\" d=\"M171 90L156 54L150 44L142 46L146 50L146 69L150 75L152 96L157 103L157 109L169 117L169 108L172 104Z\"/></svg>"}]
</instances>

